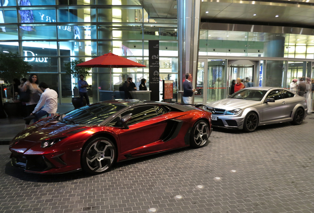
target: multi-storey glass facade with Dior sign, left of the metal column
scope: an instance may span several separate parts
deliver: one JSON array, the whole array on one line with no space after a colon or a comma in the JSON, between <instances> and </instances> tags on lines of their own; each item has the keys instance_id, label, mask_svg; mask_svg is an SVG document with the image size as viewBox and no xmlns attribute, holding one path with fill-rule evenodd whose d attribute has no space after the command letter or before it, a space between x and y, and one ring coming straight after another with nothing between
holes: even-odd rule
<instances>
[{"instance_id":1,"label":"multi-storey glass facade with Dior sign, left of the metal column","mask_svg":"<svg viewBox=\"0 0 314 213\"><path fill-rule=\"evenodd\" d=\"M162 79L178 78L177 24L150 19L137 0L12 0L0 12L0 51L19 52L39 81L58 92L59 103L78 95L79 79L65 74L65 63L111 51L148 66L149 40L160 44L160 92ZM118 90L127 77L138 86L149 79L149 69L91 69L91 103L99 101L100 90Z\"/></svg>"}]
</instances>

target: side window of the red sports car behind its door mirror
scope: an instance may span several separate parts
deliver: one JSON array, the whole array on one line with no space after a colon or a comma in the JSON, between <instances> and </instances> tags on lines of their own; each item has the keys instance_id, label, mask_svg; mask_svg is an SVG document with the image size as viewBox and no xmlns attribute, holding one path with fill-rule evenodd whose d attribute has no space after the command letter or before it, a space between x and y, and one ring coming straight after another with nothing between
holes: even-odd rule
<instances>
[{"instance_id":1,"label":"side window of the red sports car behind its door mirror","mask_svg":"<svg viewBox=\"0 0 314 213\"><path fill-rule=\"evenodd\" d=\"M157 117L157 112L154 106L139 106L131 108L121 114L123 117L126 114L131 115L131 120L127 122L128 125L136 124L154 117Z\"/></svg>"}]
</instances>

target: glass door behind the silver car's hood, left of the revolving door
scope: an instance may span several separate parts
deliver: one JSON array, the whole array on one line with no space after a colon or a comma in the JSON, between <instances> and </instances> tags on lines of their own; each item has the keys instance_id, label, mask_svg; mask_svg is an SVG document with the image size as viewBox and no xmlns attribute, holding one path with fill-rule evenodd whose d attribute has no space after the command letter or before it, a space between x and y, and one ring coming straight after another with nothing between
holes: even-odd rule
<instances>
[{"instance_id":1,"label":"glass door behind the silver car's hood, left of the revolving door","mask_svg":"<svg viewBox=\"0 0 314 213\"><path fill-rule=\"evenodd\" d=\"M207 103L226 98L226 64L227 60L224 59L208 59L206 99Z\"/></svg>"}]
</instances>

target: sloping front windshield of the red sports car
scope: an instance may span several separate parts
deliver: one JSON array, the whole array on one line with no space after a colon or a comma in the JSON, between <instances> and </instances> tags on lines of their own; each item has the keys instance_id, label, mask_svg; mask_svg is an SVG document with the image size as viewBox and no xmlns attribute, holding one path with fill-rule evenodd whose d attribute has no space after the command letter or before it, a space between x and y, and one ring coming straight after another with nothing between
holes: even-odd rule
<instances>
[{"instance_id":1,"label":"sloping front windshield of the red sports car","mask_svg":"<svg viewBox=\"0 0 314 213\"><path fill-rule=\"evenodd\" d=\"M106 118L126 107L124 103L99 103L84 106L63 115L62 122L69 124L99 125Z\"/></svg>"}]
</instances>

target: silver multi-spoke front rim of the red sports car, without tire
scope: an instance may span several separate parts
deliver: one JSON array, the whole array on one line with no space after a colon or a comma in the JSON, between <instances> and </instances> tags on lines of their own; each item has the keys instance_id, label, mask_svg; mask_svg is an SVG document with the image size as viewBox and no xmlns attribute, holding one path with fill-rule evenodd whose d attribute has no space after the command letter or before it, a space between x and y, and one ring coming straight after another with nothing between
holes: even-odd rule
<instances>
[{"instance_id":1,"label":"silver multi-spoke front rim of the red sports car, without tire","mask_svg":"<svg viewBox=\"0 0 314 213\"><path fill-rule=\"evenodd\" d=\"M114 159L115 147L105 140L94 142L86 154L87 166L97 173L107 170L113 164Z\"/></svg>"}]
</instances>

